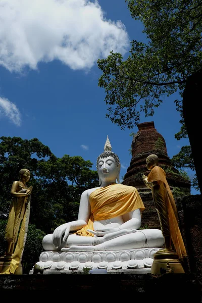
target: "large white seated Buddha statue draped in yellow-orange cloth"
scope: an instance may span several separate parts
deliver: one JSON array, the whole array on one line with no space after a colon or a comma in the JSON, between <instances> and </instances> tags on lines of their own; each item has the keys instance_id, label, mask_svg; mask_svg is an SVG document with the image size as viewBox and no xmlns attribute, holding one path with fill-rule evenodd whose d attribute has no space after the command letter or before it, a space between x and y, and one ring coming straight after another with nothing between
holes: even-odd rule
<instances>
[{"instance_id":1,"label":"large white seated Buddha statue draped in yellow-orange cloth","mask_svg":"<svg viewBox=\"0 0 202 303\"><path fill-rule=\"evenodd\" d=\"M121 164L109 138L97 158L99 187L85 190L78 220L57 227L43 238L44 250L103 251L162 247L159 229L140 229L142 199L133 186L120 184ZM117 183L118 182L118 183Z\"/></svg>"}]
</instances>

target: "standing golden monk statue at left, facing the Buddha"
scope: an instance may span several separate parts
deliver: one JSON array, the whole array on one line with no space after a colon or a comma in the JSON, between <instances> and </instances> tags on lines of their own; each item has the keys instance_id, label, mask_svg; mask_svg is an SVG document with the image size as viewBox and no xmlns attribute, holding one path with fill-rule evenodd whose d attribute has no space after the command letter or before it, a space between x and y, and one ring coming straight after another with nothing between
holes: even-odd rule
<instances>
[{"instance_id":1,"label":"standing golden monk statue at left, facing the Buddha","mask_svg":"<svg viewBox=\"0 0 202 303\"><path fill-rule=\"evenodd\" d=\"M19 171L19 177L20 180L14 181L11 188L13 199L5 234L8 244L6 254L3 257L5 259L4 263L8 265L8 262L6 261L11 260L11 262L9 266L4 266L4 264L2 270L0 268L1 274L14 274L18 269L22 260L27 237L30 214L30 194L32 192L32 186L27 187L26 185L30 179L29 170L21 169Z\"/></svg>"}]
</instances>

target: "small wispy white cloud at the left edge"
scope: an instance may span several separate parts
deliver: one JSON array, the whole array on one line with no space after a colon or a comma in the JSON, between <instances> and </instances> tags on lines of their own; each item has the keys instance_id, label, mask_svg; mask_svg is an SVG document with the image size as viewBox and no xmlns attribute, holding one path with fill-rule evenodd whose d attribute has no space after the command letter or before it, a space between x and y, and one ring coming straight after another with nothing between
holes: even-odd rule
<instances>
[{"instance_id":1,"label":"small wispy white cloud at the left edge","mask_svg":"<svg viewBox=\"0 0 202 303\"><path fill-rule=\"evenodd\" d=\"M0 116L8 117L17 126L21 125L21 114L16 105L6 98L0 97Z\"/></svg>"}]
</instances>

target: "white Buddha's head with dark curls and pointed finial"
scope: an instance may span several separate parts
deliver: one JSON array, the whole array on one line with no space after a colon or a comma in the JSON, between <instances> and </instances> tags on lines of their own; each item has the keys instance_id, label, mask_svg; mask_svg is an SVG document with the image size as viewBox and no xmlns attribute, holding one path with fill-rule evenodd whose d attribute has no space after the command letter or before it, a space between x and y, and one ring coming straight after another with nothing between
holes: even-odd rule
<instances>
[{"instance_id":1,"label":"white Buddha's head with dark curls and pointed finial","mask_svg":"<svg viewBox=\"0 0 202 303\"><path fill-rule=\"evenodd\" d=\"M99 185L104 182L120 182L121 163L119 157L113 153L110 140L107 136L104 151L97 157L96 168L99 176Z\"/></svg>"}]
</instances>

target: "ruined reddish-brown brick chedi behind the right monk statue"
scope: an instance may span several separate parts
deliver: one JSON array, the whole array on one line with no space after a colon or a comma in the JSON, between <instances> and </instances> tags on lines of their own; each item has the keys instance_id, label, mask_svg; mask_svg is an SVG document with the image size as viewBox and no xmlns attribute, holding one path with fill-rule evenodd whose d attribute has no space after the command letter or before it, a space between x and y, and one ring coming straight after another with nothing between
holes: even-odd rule
<instances>
[{"instance_id":1,"label":"ruined reddish-brown brick chedi behind the right monk statue","mask_svg":"<svg viewBox=\"0 0 202 303\"><path fill-rule=\"evenodd\" d=\"M138 125L138 132L132 140L132 159L122 184L137 188L143 200L145 210L142 213L142 225L148 228L160 228L157 211L154 208L151 190L142 180L142 174L148 175L146 157L156 154L159 166L166 172L166 179L172 191L181 192L181 197L190 194L190 181L186 180L175 169L167 154L166 142L163 136L155 129L154 122L144 122Z\"/></svg>"}]
</instances>

